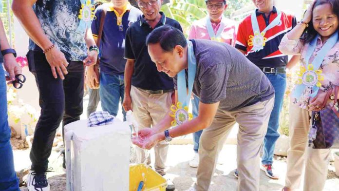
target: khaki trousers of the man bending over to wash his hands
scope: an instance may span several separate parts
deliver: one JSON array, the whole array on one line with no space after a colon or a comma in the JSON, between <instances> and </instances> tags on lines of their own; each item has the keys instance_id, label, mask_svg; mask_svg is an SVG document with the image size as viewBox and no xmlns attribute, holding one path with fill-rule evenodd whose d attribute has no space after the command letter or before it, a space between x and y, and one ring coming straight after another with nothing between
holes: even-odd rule
<instances>
[{"instance_id":1,"label":"khaki trousers of the man bending over to wash his hands","mask_svg":"<svg viewBox=\"0 0 339 191\"><path fill-rule=\"evenodd\" d=\"M218 110L211 126L200 137L200 162L197 172L197 191L207 191L210 185L218 154L232 126L239 124L237 164L238 191L259 191L260 151L267 131L274 97L246 106L237 111Z\"/></svg>"}]
</instances>

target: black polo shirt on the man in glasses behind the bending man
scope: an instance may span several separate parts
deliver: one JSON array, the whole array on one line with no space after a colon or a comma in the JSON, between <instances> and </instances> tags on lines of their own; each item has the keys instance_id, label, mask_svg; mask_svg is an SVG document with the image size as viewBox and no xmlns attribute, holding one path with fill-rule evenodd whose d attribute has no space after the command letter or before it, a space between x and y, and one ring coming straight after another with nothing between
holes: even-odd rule
<instances>
[{"instance_id":1,"label":"black polo shirt on the man in glasses behind the bending man","mask_svg":"<svg viewBox=\"0 0 339 191\"><path fill-rule=\"evenodd\" d=\"M160 14L162 18L155 28L167 24L182 31L179 22L165 17L165 14L162 12ZM152 27L146 22L144 17L134 22L127 29L125 58L135 60L132 85L144 90L173 89L173 79L163 72L158 72L148 53L146 37L152 30Z\"/></svg>"}]
</instances>

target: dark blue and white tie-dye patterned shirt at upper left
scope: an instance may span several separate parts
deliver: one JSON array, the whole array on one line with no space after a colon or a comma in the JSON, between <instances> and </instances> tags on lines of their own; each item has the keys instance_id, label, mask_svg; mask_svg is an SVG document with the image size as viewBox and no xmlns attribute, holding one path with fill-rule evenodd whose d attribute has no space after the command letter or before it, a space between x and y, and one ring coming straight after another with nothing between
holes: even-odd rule
<instances>
[{"instance_id":1,"label":"dark blue and white tie-dye patterned shirt at upper left","mask_svg":"<svg viewBox=\"0 0 339 191\"><path fill-rule=\"evenodd\" d=\"M80 0L37 0L33 6L44 33L66 59L72 61L82 61L87 57L85 31L77 30L80 9ZM31 39L29 50L42 52Z\"/></svg>"}]
</instances>

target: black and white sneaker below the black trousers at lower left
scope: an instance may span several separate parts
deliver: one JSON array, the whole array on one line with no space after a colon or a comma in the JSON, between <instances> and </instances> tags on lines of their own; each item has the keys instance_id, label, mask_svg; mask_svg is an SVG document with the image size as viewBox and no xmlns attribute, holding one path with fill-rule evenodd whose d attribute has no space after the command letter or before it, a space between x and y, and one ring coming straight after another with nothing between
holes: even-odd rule
<instances>
[{"instance_id":1,"label":"black and white sneaker below the black trousers at lower left","mask_svg":"<svg viewBox=\"0 0 339 191\"><path fill-rule=\"evenodd\" d=\"M29 171L26 183L28 191L50 191L46 172L37 174L35 171Z\"/></svg>"}]
</instances>

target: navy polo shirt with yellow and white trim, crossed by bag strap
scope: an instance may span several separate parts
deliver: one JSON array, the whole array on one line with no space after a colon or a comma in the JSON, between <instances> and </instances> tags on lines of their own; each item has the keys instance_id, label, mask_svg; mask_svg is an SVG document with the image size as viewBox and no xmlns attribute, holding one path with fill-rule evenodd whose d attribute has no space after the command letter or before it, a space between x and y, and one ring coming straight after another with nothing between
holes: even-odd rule
<instances>
[{"instance_id":1,"label":"navy polo shirt with yellow and white trim, crossed by bag strap","mask_svg":"<svg viewBox=\"0 0 339 191\"><path fill-rule=\"evenodd\" d=\"M126 31L133 22L136 22L142 16L142 12L139 9L129 6L130 10L122 16L123 31L118 28L117 17L111 3L102 4L96 9L96 19L92 22L94 37L98 37L101 13L104 9L107 10L100 41L100 70L106 74L124 74L126 65L126 59L124 59Z\"/></svg>"}]
</instances>

